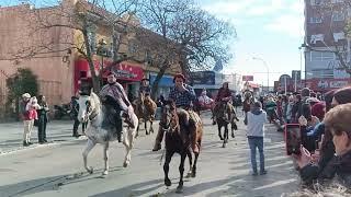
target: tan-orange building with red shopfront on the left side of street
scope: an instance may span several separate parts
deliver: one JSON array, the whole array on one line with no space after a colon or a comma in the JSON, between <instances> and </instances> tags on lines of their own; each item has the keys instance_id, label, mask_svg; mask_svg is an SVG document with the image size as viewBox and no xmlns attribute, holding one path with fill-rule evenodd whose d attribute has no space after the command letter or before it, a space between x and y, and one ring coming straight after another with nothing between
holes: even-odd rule
<instances>
[{"instance_id":1,"label":"tan-orange building with red shopfront on the left side of street","mask_svg":"<svg viewBox=\"0 0 351 197\"><path fill-rule=\"evenodd\" d=\"M81 24L72 19L68 20L64 18L63 14L57 14L63 9L65 13L70 13L71 15L83 13L90 18L94 16L89 10L91 9L91 4L87 4L87 1L83 0L64 0L60 1L60 4L50 8L35 9L30 4L0 8L1 105L4 104L7 97L5 79L15 73L18 68L29 68L38 77L39 94L44 94L47 97L49 105L69 102L83 81L91 81L91 69L89 68L87 58L79 51L86 49L84 47L77 47L84 46L84 36L81 31L78 31ZM104 14L103 10L101 14ZM38 21L38 16L45 20ZM133 25L137 26L139 24L134 15L123 15L123 20L124 18L127 18L128 23L133 23ZM45 22L53 22L54 27L42 28L42 23ZM45 25L47 24L45 23ZM67 27L68 25L75 27ZM141 26L138 28L145 30ZM33 30L36 30L34 34ZM159 38L158 34L145 31L152 35L150 36L152 39ZM112 34L106 23L102 21L89 27L88 39L91 44L90 49L94 72L102 81L106 81L106 77L102 70L106 69L113 61L111 56L113 53ZM113 68L110 68L117 73L118 82L134 95L137 95L143 78L150 78L151 73L159 71L158 68L145 61L147 46L140 47L143 45L136 45L136 43L144 42L137 39L132 31L123 37L117 48L118 56L133 56L134 58L126 58L113 66ZM102 40L104 43L104 55L99 54ZM36 51L43 48L46 50L49 48L53 51L42 54ZM33 51L34 55L25 58L20 57L18 53L24 51L24 49L35 50ZM163 78L168 79L176 72L180 72L180 66L172 63Z\"/></svg>"}]
</instances>

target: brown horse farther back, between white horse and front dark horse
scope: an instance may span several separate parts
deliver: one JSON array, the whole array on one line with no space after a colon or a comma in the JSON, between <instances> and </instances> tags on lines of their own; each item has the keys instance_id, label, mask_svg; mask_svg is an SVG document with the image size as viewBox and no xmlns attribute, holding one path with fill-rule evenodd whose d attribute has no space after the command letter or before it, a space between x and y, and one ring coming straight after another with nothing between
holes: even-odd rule
<instances>
[{"instance_id":1,"label":"brown horse farther back, between white horse and front dark horse","mask_svg":"<svg viewBox=\"0 0 351 197\"><path fill-rule=\"evenodd\" d=\"M151 100L150 96L145 96L141 93L140 97L136 102L134 102L134 108L135 108L135 114L139 119L139 123L141 123L141 119L143 119L145 124L144 128L145 128L146 135L149 135L149 131L154 134L152 123L154 123L155 114L157 109L156 103ZM150 121L149 131L147 129L147 121ZM137 127L136 136L139 136L139 125Z\"/></svg>"}]
</instances>

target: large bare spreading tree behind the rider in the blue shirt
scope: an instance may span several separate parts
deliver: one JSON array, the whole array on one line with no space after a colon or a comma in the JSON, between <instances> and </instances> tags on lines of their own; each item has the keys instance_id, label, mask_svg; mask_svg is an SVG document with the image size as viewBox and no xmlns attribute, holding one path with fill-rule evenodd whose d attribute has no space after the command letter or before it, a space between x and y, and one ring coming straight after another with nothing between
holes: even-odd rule
<instances>
[{"instance_id":1,"label":"large bare spreading tree behind the rider in the blue shirt","mask_svg":"<svg viewBox=\"0 0 351 197\"><path fill-rule=\"evenodd\" d=\"M208 70L216 61L226 63L231 58L225 38L233 36L235 28L201 10L193 0L145 0L140 18L146 27L159 34L162 43L160 47L157 46L160 42L154 38L143 39L148 42L152 54L150 66L159 69L151 88L154 99L160 79L171 65L178 63L183 74L189 76L191 71Z\"/></svg>"}]
</instances>

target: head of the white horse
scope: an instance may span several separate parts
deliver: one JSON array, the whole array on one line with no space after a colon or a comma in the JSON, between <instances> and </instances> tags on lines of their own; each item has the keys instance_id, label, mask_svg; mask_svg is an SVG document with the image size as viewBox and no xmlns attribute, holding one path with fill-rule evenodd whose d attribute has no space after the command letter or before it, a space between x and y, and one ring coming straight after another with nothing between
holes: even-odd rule
<instances>
[{"instance_id":1,"label":"head of the white horse","mask_svg":"<svg viewBox=\"0 0 351 197\"><path fill-rule=\"evenodd\" d=\"M78 100L79 112L78 120L81 123L87 123L94 116L97 108L100 106L100 101L97 94L81 94Z\"/></svg>"}]
</instances>

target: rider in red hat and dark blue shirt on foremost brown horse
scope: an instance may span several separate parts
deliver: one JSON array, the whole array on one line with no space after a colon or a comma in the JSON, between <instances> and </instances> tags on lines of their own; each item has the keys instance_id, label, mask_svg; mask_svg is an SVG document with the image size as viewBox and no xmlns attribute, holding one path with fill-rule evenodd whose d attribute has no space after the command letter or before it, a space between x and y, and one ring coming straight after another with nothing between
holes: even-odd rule
<instances>
[{"instance_id":1,"label":"rider in red hat and dark blue shirt on foremost brown horse","mask_svg":"<svg viewBox=\"0 0 351 197\"><path fill-rule=\"evenodd\" d=\"M174 88L171 88L168 99L174 101L177 108L190 109L192 106L192 102L196 100L196 95L194 90L190 85L185 84L184 82L185 82L185 77L183 74L181 73L176 74L173 78ZM190 135L191 135L192 149L196 153L199 152L199 147L196 142L196 139L197 139L196 130L193 130L192 134ZM152 151L158 151L161 149L162 138L163 138L163 131L162 129L159 129Z\"/></svg>"}]
</instances>

